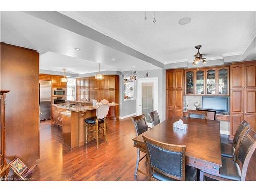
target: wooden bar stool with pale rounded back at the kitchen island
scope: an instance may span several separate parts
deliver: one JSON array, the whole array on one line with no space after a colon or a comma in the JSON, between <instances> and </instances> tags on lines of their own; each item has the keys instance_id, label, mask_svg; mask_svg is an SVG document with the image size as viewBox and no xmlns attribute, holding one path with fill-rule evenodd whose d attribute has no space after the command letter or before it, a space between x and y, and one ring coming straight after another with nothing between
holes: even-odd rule
<instances>
[{"instance_id":1,"label":"wooden bar stool with pale rounded back at the kitchen island","mask_svg":"<svg viewBox=\"0 0 256 192\"><path fill-rule=\"evenodd\" d=\"M106 115L109 112L110 106L108 104L102 104L96 108L96 117L85 119L86 123L86 143L88 142L88 137L96 139L97 148L99 147L99 133L103 130L102 135L105 137L105 141L108 142L106 137ZM92 126L89 127L89 124ZM99 125L103 124L102 127ZM94 127L94 129L92 129ZM91 128L91 129L90 129ZM95 134L92 135L92 133Z\"/></svg>"}]
</instances>

